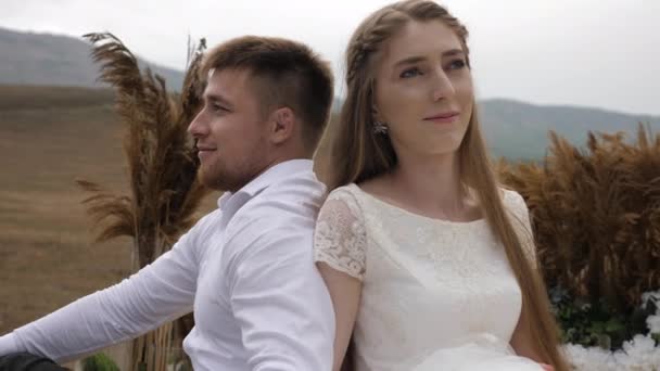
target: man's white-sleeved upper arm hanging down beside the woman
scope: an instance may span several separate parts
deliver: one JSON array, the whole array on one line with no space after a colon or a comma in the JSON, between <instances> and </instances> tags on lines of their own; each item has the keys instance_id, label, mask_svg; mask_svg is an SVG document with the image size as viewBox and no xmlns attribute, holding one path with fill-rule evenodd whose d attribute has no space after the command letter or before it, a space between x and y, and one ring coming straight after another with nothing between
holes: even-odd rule
<instances>
[{"instance_id":1,"label":"man's white-sleeved upper arm hanging down beside the woman","mask_svg":"<svg viewBox=\"0 0 660 371\"><path fill-rule=\"evenodd\" d=\"M248 363L254 371L329 371L334 312L313 261L313 233L258 225L228 241L238 252L226 272Z\"/></svg>"}]
</instances>

